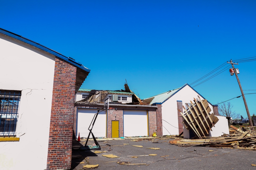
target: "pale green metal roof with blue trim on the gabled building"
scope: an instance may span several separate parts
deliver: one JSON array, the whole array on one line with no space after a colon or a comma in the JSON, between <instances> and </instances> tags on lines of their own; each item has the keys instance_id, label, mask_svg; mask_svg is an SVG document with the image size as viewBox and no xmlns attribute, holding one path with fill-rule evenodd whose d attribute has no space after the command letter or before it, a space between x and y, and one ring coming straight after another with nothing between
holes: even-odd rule
<instances>
[{"instance_id":1,"label":"pale green metal roof with blue trim on the gabled building","mask_svg":"<svg viewBox=\"0 0 256 170\"><path fill-rule=\"evenodd\" d=\"M150 105L152 104L163 104L166 100L168 100L170 97L172 97L173 95L175 95L179 90L181 90L182 88L184 88L185 86L189 86L191 89L193 89L190 85L188 84L185 84L184 86L182 87L179 87L179 88L176 88L176 89L173 89L173 90L169 90L169 91L166 91L164 93L161 93L161 94L158 94L158 95L155 95L155 96L152 96L152 97L149 97L149 98L146 98L146 99L143 99L142 102L144 101L148 101L148 100L151 100L152 98L152 101L150 102ZM198 95L200 95L195 89L193 89ZM200 95L203 99L205 99L202 95ZM209 102L209 101L208 101ZM210 102L209 102L210 103ZM211 103L210 103L211 104ZM211 104L212 105L212 104Z\"/></svg>"}]
</instances>

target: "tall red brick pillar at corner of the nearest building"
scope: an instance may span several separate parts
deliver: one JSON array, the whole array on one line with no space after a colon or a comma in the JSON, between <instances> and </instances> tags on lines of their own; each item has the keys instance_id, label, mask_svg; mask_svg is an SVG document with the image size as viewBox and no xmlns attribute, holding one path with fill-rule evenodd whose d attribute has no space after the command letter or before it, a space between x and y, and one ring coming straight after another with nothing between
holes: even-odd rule
<instances>
[{"instance_id":1,"label":"tall red brick pillar at corner of the nearest building","mask_svg":"<svg viewBox=\"0 0 256 170\"><path fill-rule=\"evenodd\" d=\"M76 67L55 59L47 170L70 169Z\"/></svg>"}]
</instances>

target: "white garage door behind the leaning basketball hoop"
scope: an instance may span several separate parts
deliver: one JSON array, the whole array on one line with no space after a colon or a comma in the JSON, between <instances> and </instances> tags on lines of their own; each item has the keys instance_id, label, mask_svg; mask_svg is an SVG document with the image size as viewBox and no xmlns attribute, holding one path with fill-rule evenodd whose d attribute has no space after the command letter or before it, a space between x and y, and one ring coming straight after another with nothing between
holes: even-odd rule
<instances>
[{"instance_id":1,"label":"white garage door behind the leaning basketball hoop","mask_svg":"<svg viewBox=\"0 0 256 170\"><path fill-rule=\"evenodd\" d=\"M89 126L93 119L95 113L97 113L97 109L84 109L78 108L77 114L77 138L78 133L80 133L80 137L88 137L89 135ZM106 111L102 111L98 114L97 119L92 128L92 133L95 137L105 137L106 136ZM92 138L92 135L90 135Z\"/></svg>"}]
</instances>

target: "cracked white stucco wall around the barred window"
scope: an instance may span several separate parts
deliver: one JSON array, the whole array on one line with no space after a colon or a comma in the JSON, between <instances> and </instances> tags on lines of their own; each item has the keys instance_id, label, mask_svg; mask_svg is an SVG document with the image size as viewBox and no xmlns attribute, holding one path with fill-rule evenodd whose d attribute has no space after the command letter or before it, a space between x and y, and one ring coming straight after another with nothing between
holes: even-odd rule
<instances>
[{"instance_id":1,"label":"cracked white stucco wall around the barred window","mask_svg":"<svg viewBox=\"0 0 256 170\"><path fill-rule=\"evenodd\" d=\"M0 89L21 90L20 141L0 141L0 169L46 169L55 57L0 34Z\"/></svg>"}]
</instances>

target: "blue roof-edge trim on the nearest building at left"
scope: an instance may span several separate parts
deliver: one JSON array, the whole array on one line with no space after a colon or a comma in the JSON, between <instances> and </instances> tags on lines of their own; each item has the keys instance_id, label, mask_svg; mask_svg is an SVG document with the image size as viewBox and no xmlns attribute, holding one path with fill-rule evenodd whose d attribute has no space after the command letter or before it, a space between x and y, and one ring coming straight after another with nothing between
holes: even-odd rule
<instances>
[{"instance_id":1,"label":"blue roof-edge trim on the nearest building at left","mask_svg":"<svg viewBox=\"0 0 256 170\"><path fill-rule=\"evenodd\" d=\"M22 42L24 42L26 44L29 44L31 46L34 46L34 47L36 47L38 49L41 49L41 50L43 50L43 51L45 51L45 52L47 52L49 54L54 55L56 57L59 57L62 60L65 60L65 61L69 62L70 64L73 64L74 66L76 66L76 67L78 67L78 68L80 68L80 69L82 69L82 70L84 70L84 71L86 71L88 73L90 73L90 71L91 71L90 69L84 67L80 62L77 62L73 58L63 56L62 54L60 54L60 53L58 53L58 52L56 52L56 51L54 51L54 50L52 50L50 48L47 48L47 47L45 47L45 46L43 46L41 44L38 44L38 43L36 43L34 41L31 41L31 40L29 40L29 39L27 39L25 37L22 37L20 35L15 34L15 33L9 32L9 31L4 30L2 28L0 28L0 33L4 34L4 35L7 35L9 37L12 37L12 38L14 38L16 40L22 41Z\"/></svg>"}]
</instances>

